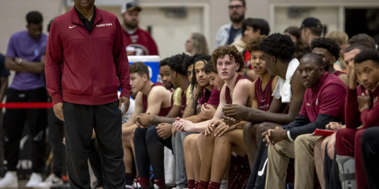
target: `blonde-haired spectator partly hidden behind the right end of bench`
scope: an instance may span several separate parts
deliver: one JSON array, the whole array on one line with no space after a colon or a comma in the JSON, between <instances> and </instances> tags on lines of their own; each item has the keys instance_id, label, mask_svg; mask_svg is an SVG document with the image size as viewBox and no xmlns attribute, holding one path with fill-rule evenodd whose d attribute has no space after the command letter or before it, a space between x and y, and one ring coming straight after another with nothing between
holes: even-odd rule
<instances>
[{"instance_id":1,"label":"blonde-haired spectator partly hidden behind the right end of bench","mask_svg":"<svg viewBox=\"0 0 379 189\"><path fill-rule=\"evenodd\" d=\"M333 31L333 32L327 33L325 37L335 39L341 48L340 58L338 58L337 61L335 62L334 68L339 71L346 70L346 65L344 61L344 53L345 53L346 47L348 47L348 40L349 40L348 35L345 32Z\"/></svg>"}]
</instances>

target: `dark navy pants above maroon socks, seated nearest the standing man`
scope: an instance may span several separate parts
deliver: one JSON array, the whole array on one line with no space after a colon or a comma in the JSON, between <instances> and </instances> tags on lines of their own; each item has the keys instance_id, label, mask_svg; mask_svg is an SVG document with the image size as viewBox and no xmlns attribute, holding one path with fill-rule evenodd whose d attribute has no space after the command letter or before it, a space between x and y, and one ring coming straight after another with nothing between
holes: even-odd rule
<instances>
[{"instance_id":1,"label":"dark navy pants above maroon socks, seated nearest the standing man","mask_svg":"<svg viewBox=\"0 0 379 189\"><path fill-rule=\"evenodd\" d=\"M157 125L153 125L134 131L135 161L139 177L149 177L150 164L156 179L165 177L164 146L172 150L171 137L162 139L156 128Z\"/></svg>"}]
</instances>

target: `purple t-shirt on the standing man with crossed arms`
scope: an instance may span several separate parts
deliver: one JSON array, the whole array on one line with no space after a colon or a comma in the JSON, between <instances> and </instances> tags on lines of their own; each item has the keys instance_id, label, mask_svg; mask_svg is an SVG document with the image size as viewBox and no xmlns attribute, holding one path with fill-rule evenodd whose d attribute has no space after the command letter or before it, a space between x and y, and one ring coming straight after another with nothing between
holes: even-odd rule
<instances>
[{"instance_id":1,"label":"purple t-shirt on the standing man with crossed arms","mask_svg":"<svg viewBox=\"0 0 379 189\"><path fill-rule=\"evenodd\" d=\"M41 61L41 56L46 49L48 35L43 34L41 38L34 40L28 31L14 33L9 39L6 56L19 57L31 62ZM42 73L16 72L10 86L16 90L32 90L45 87Z\"/></svg>"}]
</instances>

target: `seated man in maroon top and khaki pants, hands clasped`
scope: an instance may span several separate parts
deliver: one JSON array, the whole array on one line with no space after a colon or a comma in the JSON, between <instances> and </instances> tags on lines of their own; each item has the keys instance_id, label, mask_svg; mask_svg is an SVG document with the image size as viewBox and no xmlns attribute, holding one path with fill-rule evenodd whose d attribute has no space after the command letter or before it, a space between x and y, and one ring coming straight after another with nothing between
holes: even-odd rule
<instances>
[{"instance_id":1,"label":"seated man in maroon top and khaki pants, hands clasped","mask_svg":"<svg viewBox=\"0 0 379 189\"><path fill-rule=\"evenodd\" d=\"M300 60L300 80L307 88L301 111L288 125L269 129L262 135L269 144L265 188L285 188L289 158L295 158L295 188L313 188L313 147L320 138L310 136L330 121L344 119L345 84L323 68L319 54Z\"/></svg>"}]
</instances>

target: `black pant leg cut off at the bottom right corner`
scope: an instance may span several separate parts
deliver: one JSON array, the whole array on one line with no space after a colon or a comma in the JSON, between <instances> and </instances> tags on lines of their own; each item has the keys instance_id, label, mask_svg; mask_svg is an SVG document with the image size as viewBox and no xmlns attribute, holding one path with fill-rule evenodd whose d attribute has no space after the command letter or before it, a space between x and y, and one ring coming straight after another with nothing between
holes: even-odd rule
<instances>
[{"instance_id":1,"label":"black pant leg cut off at the bottom right corner","mask_svg":"<svg viewBox=\"0 0 379 189\"><path fill-rule=\"evenodd\" d=\"M370 188L379 188L379 127L366 129L362 134L362 157Z\"/></svg>"}]
</instances>

